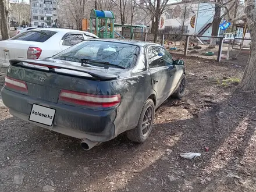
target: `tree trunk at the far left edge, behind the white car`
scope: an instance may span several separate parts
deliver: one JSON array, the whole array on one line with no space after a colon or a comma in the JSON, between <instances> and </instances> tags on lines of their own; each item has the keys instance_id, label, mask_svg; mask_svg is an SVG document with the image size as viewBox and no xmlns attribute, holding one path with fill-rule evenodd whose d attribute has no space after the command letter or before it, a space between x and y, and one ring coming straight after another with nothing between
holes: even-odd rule
<instances>
[{"instance_id":1,"label":"tree trunk at the far left edge, behind the white car","mask_svg":"<svg viewBox=\"0 0 256 192\"><path fill-rule=\"evenodd\" d=\"M10 38L10 2L9 0L0 0L0 14L1 14L1 35L2 40Z\"/></svg>"}]
</instances>

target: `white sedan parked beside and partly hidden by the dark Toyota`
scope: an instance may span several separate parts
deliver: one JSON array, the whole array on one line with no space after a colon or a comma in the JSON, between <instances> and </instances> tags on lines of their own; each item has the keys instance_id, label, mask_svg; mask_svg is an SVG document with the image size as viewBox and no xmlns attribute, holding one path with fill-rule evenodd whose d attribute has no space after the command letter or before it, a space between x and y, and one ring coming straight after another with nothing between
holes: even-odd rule
<instances>
[{"instance_id":1,"label":"white sedan parked beside and partly hidden by the dark Toyota","mask_svg":"<svg viewBox=\"0 0 256 192\"><path fill-rule=\"evenodd\" d=\"M9 40L0 41L0 74L6 74L10 59L51 57L90 38L98 37L86 31L42 28L29 30Z\"/></svg>"}]
</instances>

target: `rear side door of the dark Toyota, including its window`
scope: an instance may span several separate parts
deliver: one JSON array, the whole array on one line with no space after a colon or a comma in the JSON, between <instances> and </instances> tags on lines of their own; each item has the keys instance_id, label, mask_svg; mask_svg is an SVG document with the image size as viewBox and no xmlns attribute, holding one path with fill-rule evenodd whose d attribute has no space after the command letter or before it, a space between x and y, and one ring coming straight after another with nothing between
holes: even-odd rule
<instances>
[{"instance_id":1,"label":"rear side door of the dark Toyota, including its window","mask_svg":"<svg viewBox=\"0 0 256 192\"><path fill-rule=\"evenodd\" d=\"M168 98L169 94L169 66L165 65L159 46L151 45L147 53L148 66L152 79L152 87L157 93L157 106Z\"/></svg>"}]
</instances>

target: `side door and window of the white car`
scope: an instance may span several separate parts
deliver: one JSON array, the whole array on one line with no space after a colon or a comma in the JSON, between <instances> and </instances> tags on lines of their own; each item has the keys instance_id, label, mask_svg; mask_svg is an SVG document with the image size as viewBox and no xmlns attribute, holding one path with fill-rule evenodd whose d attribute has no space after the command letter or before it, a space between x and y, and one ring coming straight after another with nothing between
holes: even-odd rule
<instances>
[{"instance_id":1,"label":"side door and window of the white car","mask_svg":"<svg viewBox=\"0 0 256 192\"><path fill-rule=\"evenodd\" d=\"M84 41L83 33L67 33L64 35L63 39L60 42L60 47L63 50L78 44L79 42Z\"/></svg>"}]
</instances>

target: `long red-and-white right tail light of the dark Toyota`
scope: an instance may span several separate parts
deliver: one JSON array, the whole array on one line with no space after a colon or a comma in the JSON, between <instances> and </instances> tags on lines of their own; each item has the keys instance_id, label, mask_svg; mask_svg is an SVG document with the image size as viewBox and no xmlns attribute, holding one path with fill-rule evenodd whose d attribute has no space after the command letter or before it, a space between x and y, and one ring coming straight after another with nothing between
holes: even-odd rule
<instances>
[{"instance_id":1,"label":"long red-and-white right tail light of the dark Toyota","mask_svg":"<svg viewBox=\"0 0 256 192\"><path fill-rule=\"evenodd\" d=\"M62 90L59 94L59 100L84 106L108 108L118 106L121 102L121 95L93 95L76 91Z\"/></svg>"}]
</instances>

